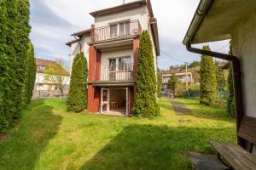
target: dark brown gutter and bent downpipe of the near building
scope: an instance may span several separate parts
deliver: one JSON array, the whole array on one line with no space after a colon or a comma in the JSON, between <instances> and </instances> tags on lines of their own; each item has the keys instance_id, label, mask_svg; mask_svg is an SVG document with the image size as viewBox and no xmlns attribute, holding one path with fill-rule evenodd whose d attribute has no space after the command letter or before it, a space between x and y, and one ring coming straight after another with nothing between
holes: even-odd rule
<instances>
[{"instance_id":1,"label":"dark brown gutter and bent downpipe of the near building","mask_svg":"<svg viewBox=\"0 0 256 170\"><path fill-rule=\"evenodd\" d=\"M232 62L233 68L233 88L234 88L234 97L236 104L236 132L241 125L241 119L244 116L244 108L243 108L243 99L242 99L242 85L241 85L241 67L240 60L238 57L230 54L221 54L218 52L212 52L203 50L200 48L192 48L191 42L195 37L196 32L200 28L203 20L205 19L209 9L212 7L212 3L214 0L201 0L198 8L196 9L195 16L189 26L189 30L186 33L186 36L183 39L183 44L186 45L186 48L189 52L195 54L204 54L218 59L226 59ZM237 143L246 148L246 140L242 139L237 135Z\"/></svg>"}]
</instances>

